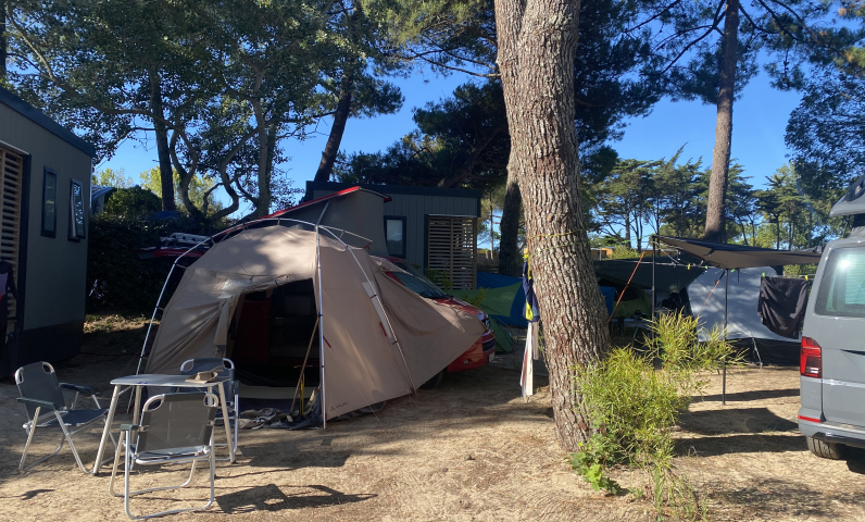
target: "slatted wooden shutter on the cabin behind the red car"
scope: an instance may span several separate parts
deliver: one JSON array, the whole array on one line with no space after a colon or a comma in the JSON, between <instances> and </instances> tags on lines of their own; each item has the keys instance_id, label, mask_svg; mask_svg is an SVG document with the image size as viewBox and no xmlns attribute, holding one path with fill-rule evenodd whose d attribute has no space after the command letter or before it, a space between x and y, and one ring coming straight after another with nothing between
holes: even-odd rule
<instances>
[{"instance_id":1,"label":"slatted wooden shutter on the cabin behind the red car","mask_svg":"<svg viewBox=\"0 0 865 522\"><path fill-rule=\"evenodd\" d=\"M427 269L436 283L473 289L477 275L477 217L430 215Z\"/></svg>"}]
</instances>

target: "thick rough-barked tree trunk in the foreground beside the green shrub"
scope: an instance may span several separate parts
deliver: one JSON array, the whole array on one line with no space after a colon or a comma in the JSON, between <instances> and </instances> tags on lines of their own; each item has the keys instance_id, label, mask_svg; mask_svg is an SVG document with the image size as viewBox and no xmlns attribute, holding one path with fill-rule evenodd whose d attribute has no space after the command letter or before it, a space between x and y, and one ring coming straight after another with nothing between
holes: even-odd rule
<instances>
[{"instance_id":1,"label":"thick rough-barked tree trunk in the foreground beside the green shrub","mask_svg":"<svg viewBox=\"0 0 865 522\"><path fill-rule=\"evenodd\" d=\"M610 349L577 171L574 59L580 2L528 0L525 11L521 4L496 0L511 126L509 169L516 166L523 195L555 424L565 449L576 451L590 426L578 408L574 369L599 361Z\"/></svg>"}]
</instances>

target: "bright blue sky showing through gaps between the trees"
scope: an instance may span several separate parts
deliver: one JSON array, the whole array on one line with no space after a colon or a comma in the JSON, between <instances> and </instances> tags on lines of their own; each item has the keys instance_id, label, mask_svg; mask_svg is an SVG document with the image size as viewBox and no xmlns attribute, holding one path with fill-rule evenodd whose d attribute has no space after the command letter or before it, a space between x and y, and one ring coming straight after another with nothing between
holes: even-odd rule
<instances>
[{"instance_id":1,"label":"bright blue sky showing through gaps between the trees","mask_svg":"<svg viewBox=\"0 0 865 522\"><path fill-rule=\"evenodd\" d=\"M429 71L417 71L409 78L391 79L405 97L402 109L396 114L350 120L342 150L374 152L387 148L414 128L413 108L448 97L457 85L471 79L463 74L442 77ZM789 151L783 144L783 133L788 116L799 99L797 92L773 89L768 76L760 74L734 105L732 158L744 167L744 175L751 176L751 184L762 186L766 176L787 161ZM305 141L284 144L290 161L281 167L288 170L294 187L304 188L305 182L315 175L330 130L329 124L329 120L323 122L319 134ZM624 138L611 145L622 158L654 160L669 158L687 144L680 161L702 157L703 164L709 166L714 141L715 107L695 101L662 101L649 116L630 119ZM138 183L138 173L155 165L156 149L151 136L147 144L126 141L110 161L102 162L97 170L124 169L126 175ZM248 209L241 209L241 214L243 210Z\"/></svg>"}]
</instances>

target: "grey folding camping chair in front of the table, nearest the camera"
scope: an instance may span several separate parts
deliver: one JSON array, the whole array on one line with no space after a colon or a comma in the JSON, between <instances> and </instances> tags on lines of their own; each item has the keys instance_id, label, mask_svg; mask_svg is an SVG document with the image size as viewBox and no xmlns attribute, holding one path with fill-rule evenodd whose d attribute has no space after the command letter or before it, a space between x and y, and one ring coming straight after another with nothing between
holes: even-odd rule
<instances>
[{"instance_id":1,"label":"grey folding camping chair in front of the table, nearest the camera","mask_svg":"<svg viewBox=\"0 0 865 522\"><path fill-rule=\"evenodd\" d=\"M140 424L122 424L121 445L114 455L109 492L115 497L114 478L120 465L121 449L125 453L123 480L123 507L134 520L162 517L163 514L199 511L213 504L214 474L216 461L213 451L213 424L220 399L213 394L167 394L158 395L145 402ZM129 511L129 498L135 495L165 489L179 489L192 482L196 464L206 460L210 463L210 498L199 508L178 508L159 513L134 515ZM151 487L129 490L129 473L134 464L192 463L189 478L179 486Z\"/></svg>"}]
</instances>

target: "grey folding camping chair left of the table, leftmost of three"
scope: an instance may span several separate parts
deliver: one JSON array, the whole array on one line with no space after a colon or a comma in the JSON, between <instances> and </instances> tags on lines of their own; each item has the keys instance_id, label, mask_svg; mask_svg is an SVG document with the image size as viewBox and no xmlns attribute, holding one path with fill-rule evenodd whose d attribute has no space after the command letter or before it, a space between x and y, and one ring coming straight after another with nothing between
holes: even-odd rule
<instances>
[{"instance_id":1,"label":"grey folding camping chair left of the table, leftmost of three","mask_svg":"<svg viewBox=\"0 0 865 522\"><path fill-rule=\"evenodd\" d=\"M58 455L63 448L63 442L66 440L70 443L72 455L75 456L78 468L87 473L84 464L82 464L82 458L78 457L78 451L72 442L72 435L97 421L105 421L108 410L99 406L99 400L96 398L93 390L77 384L59 383L54 366L47 362L34 362L20 368L15 372L15 384L18 385L18 393L21 393L18 402L23 403L27 410L27 422L24 424L24 431L27 433L27 443L24 445L24 453L21 456L18 471L26 472L36 464ZM63 397L64 389L75 391L75 399L72 401L71 408L66 407L66 399ZM78 401L80 394L92 398L97 409L76 410L75 403ZM30 443L33 443L33 436L36 434L37 427L60 427L63 431L63 436L53 453L42 457L25 468L27 451L30 449ZM114 443L113 436L111 442ZM114 445L116 446L116 443Z\"/></svg>"}]
</instances>

